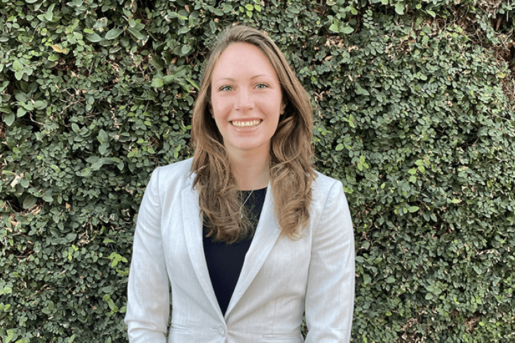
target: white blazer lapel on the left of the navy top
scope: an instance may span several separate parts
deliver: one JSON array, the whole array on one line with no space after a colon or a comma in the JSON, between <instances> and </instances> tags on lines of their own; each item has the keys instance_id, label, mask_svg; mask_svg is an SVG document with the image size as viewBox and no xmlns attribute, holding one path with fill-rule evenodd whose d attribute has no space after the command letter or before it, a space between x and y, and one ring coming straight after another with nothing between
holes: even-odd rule
<instances>
[{"instance_id":1,"label":"white blazer lapel on the left of the navy top","mask_svg":"<svg viewBox=\"0 0 515 343\"><path fill-rule=\"evenodd\" d=\"M203 226L200 209L198 207L198 193L191 188L192 185L188 186L189 187L185 187L181 191L182 220L187 251L190 255L198 282L204 289L209 303L216 309L220 318L223 318L213 286L211 285L211 279L209 278L209 271L207 270L207 263L205 261L202 242Z\"/></svg>"}]
</instances>

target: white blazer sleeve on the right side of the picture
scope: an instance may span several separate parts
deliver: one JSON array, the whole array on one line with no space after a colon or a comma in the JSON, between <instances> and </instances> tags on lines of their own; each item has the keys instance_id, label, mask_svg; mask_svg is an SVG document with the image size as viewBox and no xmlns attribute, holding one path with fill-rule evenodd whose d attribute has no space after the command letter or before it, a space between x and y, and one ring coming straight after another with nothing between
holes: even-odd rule
<instances>
[{"instance_id":1,"label":"white blazer sleeve on the right side of the picture","mask_svg":"<svg viewBox=\"0 0 515 343\"><path fill-rule=\"evenodd\" d=\"M332 185L312 233L306 343L348 343L354 313L354 233L341 182Z\"/></svg>"}]
</instances>

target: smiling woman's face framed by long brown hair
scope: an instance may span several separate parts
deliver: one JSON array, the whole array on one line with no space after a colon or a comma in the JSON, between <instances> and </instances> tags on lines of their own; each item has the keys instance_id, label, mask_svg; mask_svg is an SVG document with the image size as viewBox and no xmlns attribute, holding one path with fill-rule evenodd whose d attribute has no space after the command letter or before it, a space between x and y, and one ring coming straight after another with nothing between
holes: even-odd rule
<instances>
[{"instance_id":1,"label":"smiling woman's face framed by long brown hair","mask_svg":"<svg viewBox=\"0 0 515 343\"><path fill-rule=\"evenodd\" d=\"M268 154L284 105L277 74L258 47L233 43L222 52L211 77L211 106L230 156Z\"/></svg>"}]
</instances>

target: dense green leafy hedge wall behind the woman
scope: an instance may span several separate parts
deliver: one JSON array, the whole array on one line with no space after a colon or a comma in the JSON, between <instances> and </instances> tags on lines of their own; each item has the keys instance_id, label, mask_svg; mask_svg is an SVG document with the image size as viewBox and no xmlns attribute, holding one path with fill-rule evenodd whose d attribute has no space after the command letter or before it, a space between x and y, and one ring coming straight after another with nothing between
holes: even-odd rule
<instances>
[{"instance_id":1,"label":"dense green leafy hedge wall behind the woman","mask_svg":"<svg viewBox=\"0 0 515 343\"><path fill-rule=\"evenodd\" d=\"M356 233L353 342L515 340L515 10L474 0L0 0L0 342L123 342L150 172L203 61L266 29Z\"/></svg>"}]
</instances>

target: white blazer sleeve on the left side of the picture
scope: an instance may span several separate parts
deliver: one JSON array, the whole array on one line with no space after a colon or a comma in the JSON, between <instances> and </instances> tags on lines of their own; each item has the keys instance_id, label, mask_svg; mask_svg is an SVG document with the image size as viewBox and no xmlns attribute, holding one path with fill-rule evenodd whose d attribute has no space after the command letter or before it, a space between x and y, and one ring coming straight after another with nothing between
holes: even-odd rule
<instances>
[{"instance_id":1,"label":"white blazer sleeve on the left side of the picture","mask_svg":"<svg viewBox=\"0 0 515 343\"><path fill-rule=\"evenodd\" d=\"M130 343L165 343L170 302L160 224L157 168L141 200L134 236L125 316Z\"/></svg>"}]
</instances>

